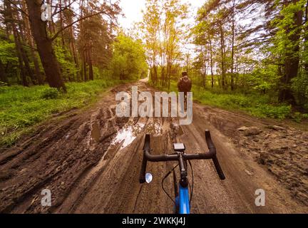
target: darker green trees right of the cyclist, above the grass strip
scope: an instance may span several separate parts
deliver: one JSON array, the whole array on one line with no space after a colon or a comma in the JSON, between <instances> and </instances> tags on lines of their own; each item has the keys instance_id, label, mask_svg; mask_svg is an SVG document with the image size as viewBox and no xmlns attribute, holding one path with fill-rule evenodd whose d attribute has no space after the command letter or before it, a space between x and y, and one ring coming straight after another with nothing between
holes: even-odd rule
<instances>
[{"instance_id":1,"label":"darker green trees right of the cyclist, above the grass strip","mask_svg":"<svg viewBox=\"0 0 308 228\"><path fill-rule=\"evenodd\" d=\"M215 87L243 93L270 93L282 102L296 101L294 106L307 110L308 2L255 3L205 1L192 30L198 54L193 66L202 73L206 66L207 75L212 67ZM255 14L258 7L261 10ZM248 12L250 8L252 11ZM262 24L238 20L248 14L252 21L257 21L261 14L265 20ZM200 72L198 85L202 85ZM270 110L268 115L272 115Z\"/></svg>"}]
</instances>

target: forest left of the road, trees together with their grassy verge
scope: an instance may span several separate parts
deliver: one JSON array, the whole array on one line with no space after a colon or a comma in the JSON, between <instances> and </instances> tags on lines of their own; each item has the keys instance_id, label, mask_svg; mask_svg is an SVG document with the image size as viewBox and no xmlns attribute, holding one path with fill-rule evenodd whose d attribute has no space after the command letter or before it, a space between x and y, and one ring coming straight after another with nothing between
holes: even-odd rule
<instances>
[{"instance_id":1,"label":"forest left of the road, trees together with their grassy verge","mask_svg":"<svg viewBox=\"0 0 308 228\"><path fill-rule=\"evenodd\" d=\"M106 88L148 75L111 1L0 1L0 144Z\"/></svg>"}]
</instances>

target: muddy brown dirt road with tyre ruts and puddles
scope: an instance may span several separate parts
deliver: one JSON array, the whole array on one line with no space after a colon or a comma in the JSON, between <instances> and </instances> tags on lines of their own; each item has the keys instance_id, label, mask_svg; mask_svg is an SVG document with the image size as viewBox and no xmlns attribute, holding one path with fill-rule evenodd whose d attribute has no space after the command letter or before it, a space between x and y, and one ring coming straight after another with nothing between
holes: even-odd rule
<instances>
[{"instance_id":1,"label":"muddy brown dirt road with tyre ruts and puddles","mask_svg":"<svg viewBox=\"0 0 308 228\"><path fill-rule=\"evenodd\" d=\"M135 85L153 92L142 81ZM219 180L211 161L194 161L193 213L308 212L306 132L197 103L192 125L179 126L176 118L117 118L115 94L131 86L113 88L92 108L65 113L1 149L0 212L172 213L161 180L175 163L150 163L153 182L138 182L145 132L152 135L153 153L172 152L173 142L204 152L205 129L227 179ZM171 178L165 187L172 194ZM51 207L41 206L44 189L51 190ZM255 205L258 189L266 192L265 207Z\"/></svg>"}]
</instances>

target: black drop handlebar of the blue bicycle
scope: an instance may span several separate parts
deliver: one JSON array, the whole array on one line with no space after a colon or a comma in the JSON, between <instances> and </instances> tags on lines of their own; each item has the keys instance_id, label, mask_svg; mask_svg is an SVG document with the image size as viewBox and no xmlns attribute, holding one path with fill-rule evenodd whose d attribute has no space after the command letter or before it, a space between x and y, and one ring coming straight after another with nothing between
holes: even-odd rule
<instances>
[{"instance_id":1,"label":"black drop handlebar of the blue bicycle","mask_svg":"<svg viewBox=\"0 0 308 228\"><path fill-rule=\"evenodd\" d=\"M220 167L220 163L217 160L216 156L216 148L214 143L212 142L212 138L209 130L205 130L205 140L207 142L207 147L209 152L202 154L173 154L173 155L151 155L150 154L150 135L145 135L145 144L143 146L143 162L140 172L139 182L143 184L145 182L145 172L148 162L167 162L167 161L179 161L184 160L208 160L212 159L214 163L215 169L217 171L218 176L221 180L225 180L225 175L222 172L222 168ZM181 157L181 159L180 159Z\"/></svg>"}]
</instances>

